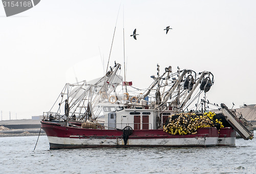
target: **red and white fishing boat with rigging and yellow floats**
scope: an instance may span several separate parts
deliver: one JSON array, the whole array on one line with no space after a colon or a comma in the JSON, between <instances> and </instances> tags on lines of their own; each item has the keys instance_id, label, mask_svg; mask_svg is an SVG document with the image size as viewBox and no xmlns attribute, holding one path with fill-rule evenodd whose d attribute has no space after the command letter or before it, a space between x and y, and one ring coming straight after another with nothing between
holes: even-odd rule
<instances>
[{"instance_id":1,"label":"red and white fishing boat with rigging and yellow floats","mask_svg":"<svg viewBox=\"0 0 256 174\"><path fill-rule=\"evenodd\" d=\"M236 130L244 139L253 136L225 104L207 100L211 72L173 72L169 66L160 75L157 65L152 84L140 90L120 71L115 62L101 78L65 85L41 121L50 149L234 146ZM222 121L210 105L222 110Z\"/></svg>"}]
</instances>

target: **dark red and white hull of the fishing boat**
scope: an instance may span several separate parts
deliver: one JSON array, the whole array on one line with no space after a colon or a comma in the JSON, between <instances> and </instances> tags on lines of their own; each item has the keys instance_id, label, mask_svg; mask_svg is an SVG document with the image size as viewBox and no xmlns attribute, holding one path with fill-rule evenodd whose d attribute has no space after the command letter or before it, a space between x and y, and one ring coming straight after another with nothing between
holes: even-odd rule
<instances>
[{"instance_id":1,"label":"dark red and white hull of the fishing boat","mask_svg":"<svg viewBox=\"0 0 256 174\"><path fill-rule=\"evenodd\" d=\"M170 135L163 129L133 130L124 145L123 131L63 126L53 122L41 122L48 136L50 149L90 147L191 147L216 146L219 138L236 137L232 128L199 128L195 135ZM223 141L224 142L224 141ZM225 145L225 144L224 144Z\"/></svg>"}]
</instances>

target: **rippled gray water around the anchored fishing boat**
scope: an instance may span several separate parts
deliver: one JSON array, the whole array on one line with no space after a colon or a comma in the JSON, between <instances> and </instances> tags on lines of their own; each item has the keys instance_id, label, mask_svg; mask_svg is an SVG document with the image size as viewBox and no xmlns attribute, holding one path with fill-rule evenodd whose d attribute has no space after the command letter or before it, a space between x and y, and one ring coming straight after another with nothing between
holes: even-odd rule
<instances>
[{"instance_id":1,"label":"rippled gray water around the anchored fishing boat","mask_svg":"<svg viewBox=\"0 0 256 174\"><path fill-rule=\"evenodd\" d=\"M254 132L255 133L255 132ZM236 147L49 150L46 136L0 138L0 173L256 173L256 139Z\"/></svg>"}]
</instances>

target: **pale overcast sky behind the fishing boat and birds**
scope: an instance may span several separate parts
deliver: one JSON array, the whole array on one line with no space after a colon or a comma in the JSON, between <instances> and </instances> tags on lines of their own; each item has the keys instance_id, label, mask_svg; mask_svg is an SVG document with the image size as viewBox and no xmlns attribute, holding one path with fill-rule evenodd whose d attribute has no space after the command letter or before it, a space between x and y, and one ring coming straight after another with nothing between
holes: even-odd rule
<instances>
[{"instance_id":1,"label":"pale overcast sky behind the fishing boat and birds","mask_svg":"<svg viewBox=\"0 0 256 174\"><path fill-rule=\"evenodd\" d=\"M256 104L255 7L256 1L234 0L42 0L6 17L0 5L3 120L9 111L11 119L42 115L66 82L103 75L115 25L110 66L123 64L123 24L126 79L134 86L150 85L159 63L162 73L168 66L212 72L212 103ZM167 35L166 26L173 28ZM137 40L130 37L135 28Z\"/></svg>"}]
</instances>

